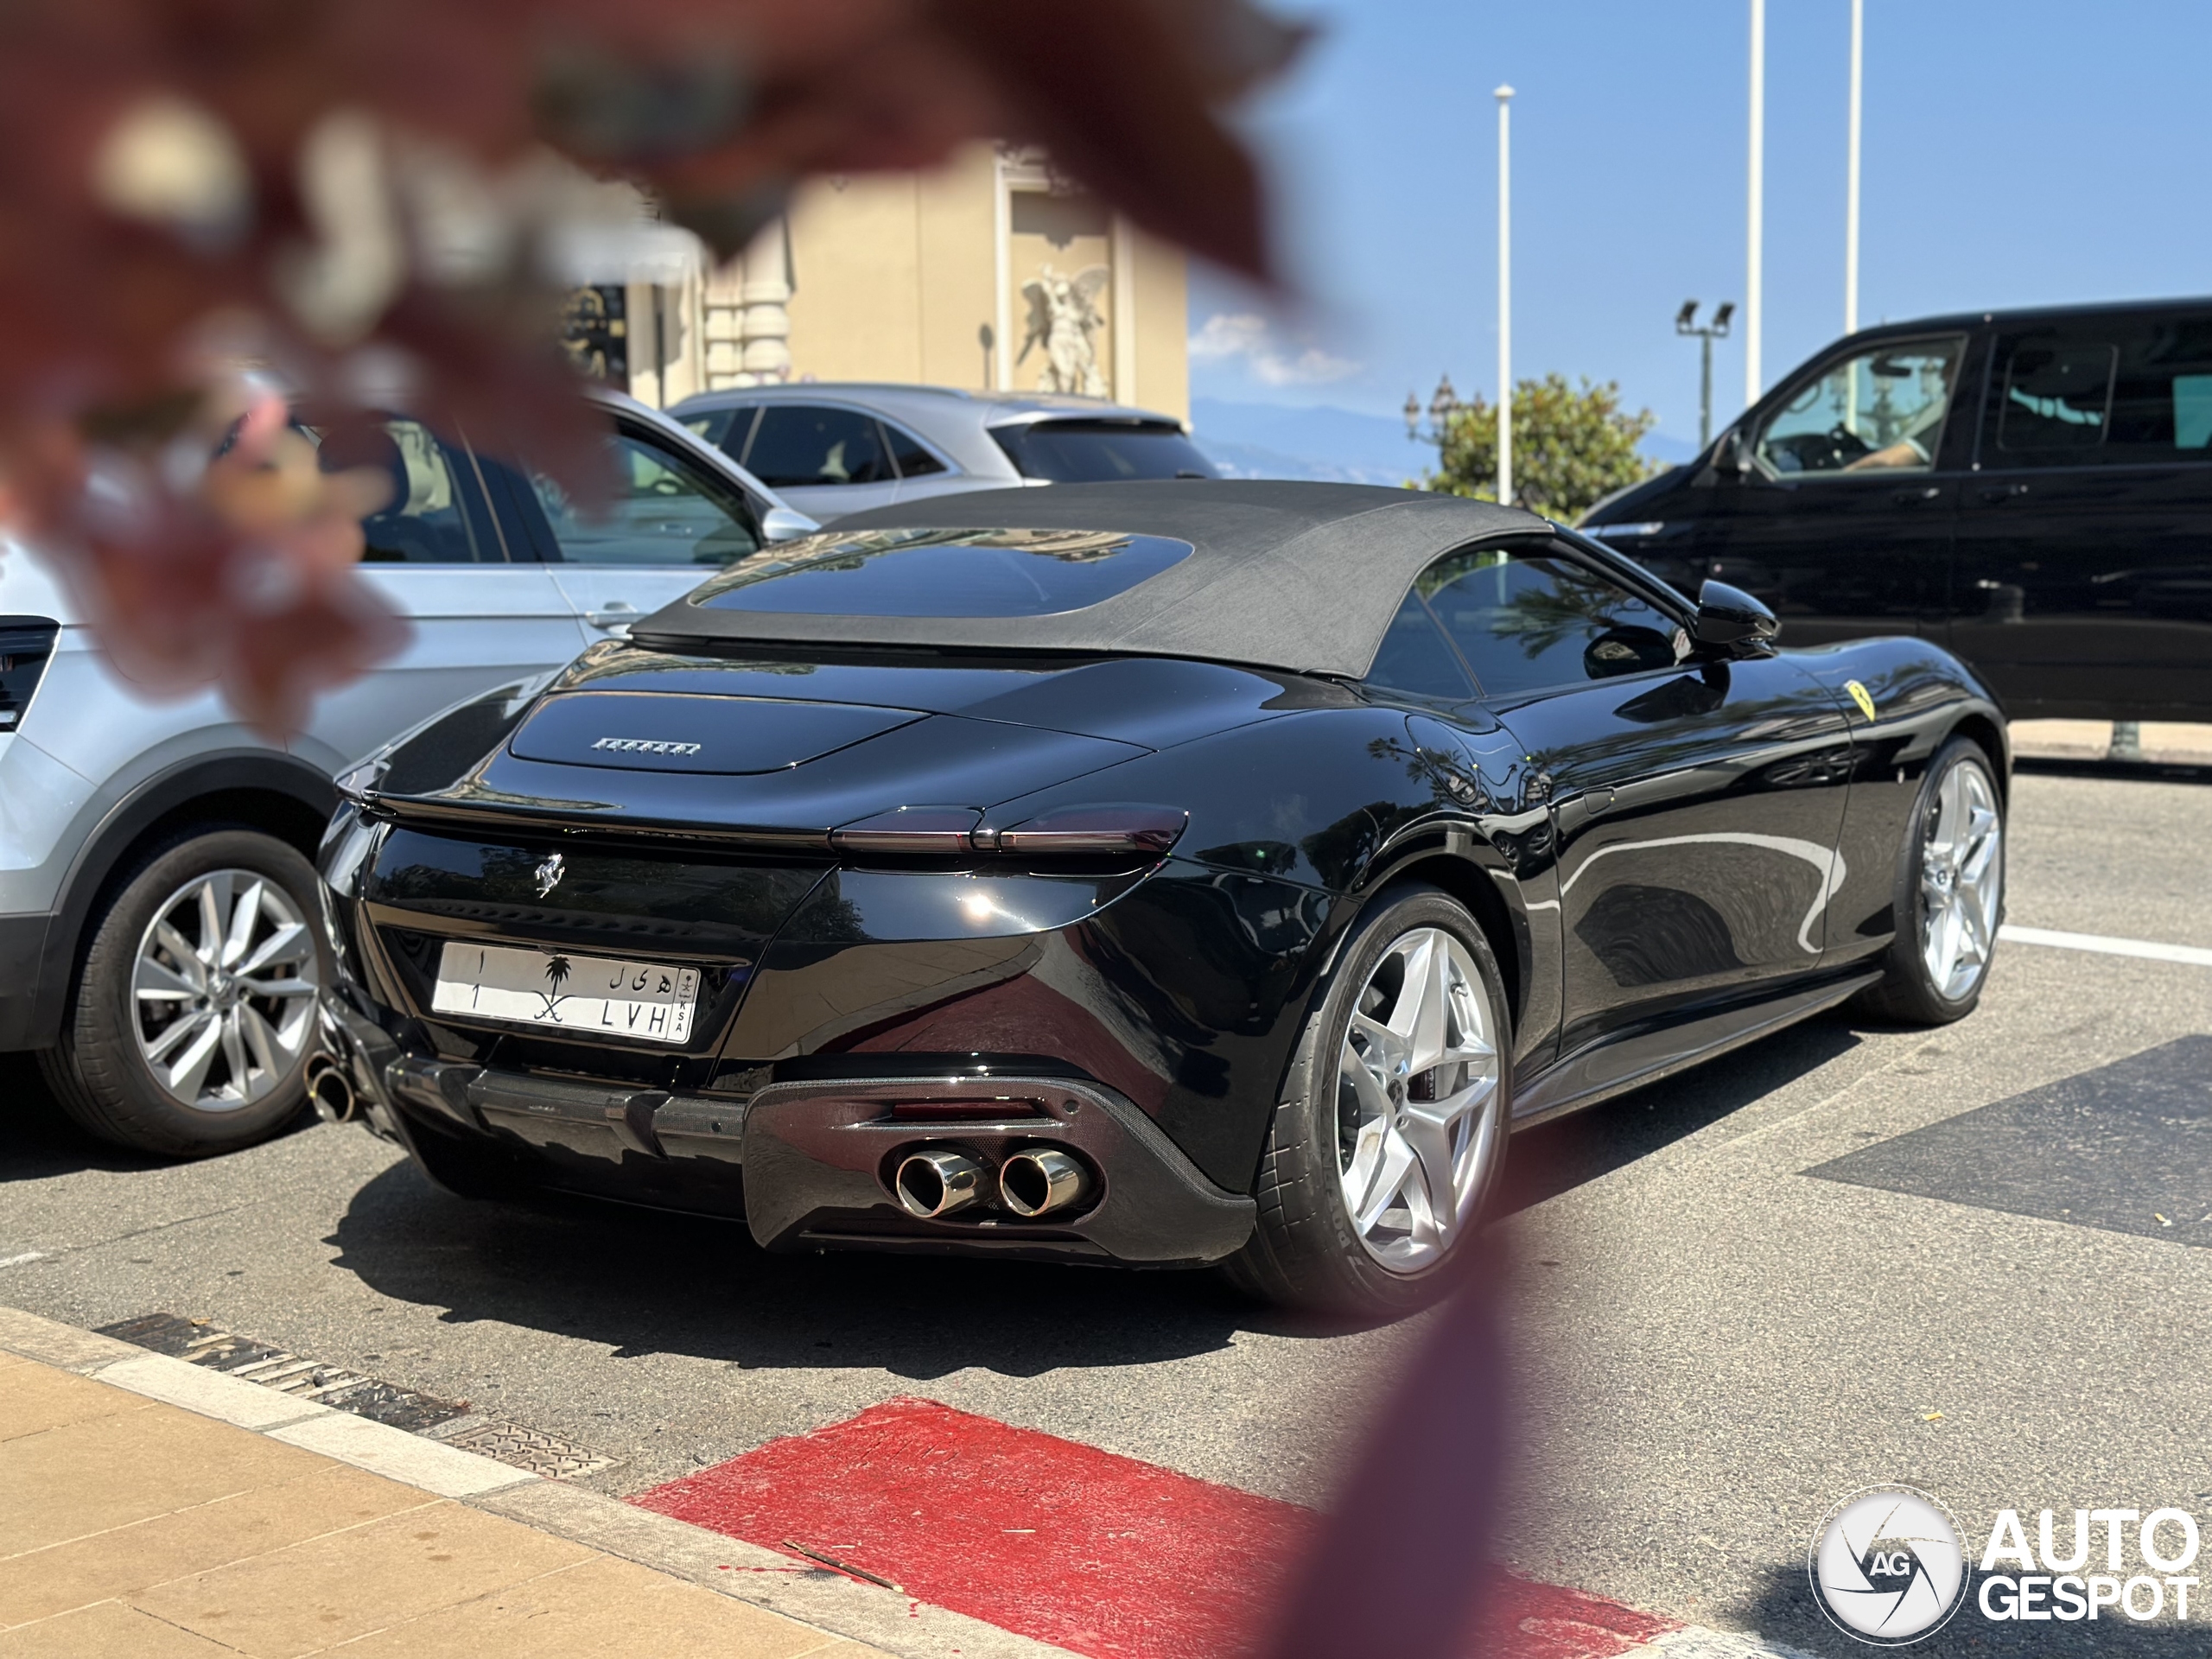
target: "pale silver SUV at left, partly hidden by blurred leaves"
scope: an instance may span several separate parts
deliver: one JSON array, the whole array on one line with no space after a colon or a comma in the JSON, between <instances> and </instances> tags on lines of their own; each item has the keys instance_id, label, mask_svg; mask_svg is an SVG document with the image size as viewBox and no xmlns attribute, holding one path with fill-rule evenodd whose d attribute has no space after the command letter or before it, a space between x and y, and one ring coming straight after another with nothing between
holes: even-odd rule
<instances>
[{"instance_id":1,"label":"pale silver SUV at left, partly hidden by blurred leaves","mask_svg":"<svg viewBox=\"0 0 2212 1659\"><path fill-rule=\"evenodd\" d=\"M292 743L212 692L144 697L51 575L0 551L0 1051L35 1048L88 1130L201 1155L290 1121L330 980L310 856L332 776L816 529L684 427L591 396L619 478L604 518L416 420L385 422L394 500L363 520L363 577L411 637L325 695Z\"/></svg>"}]
</instances>

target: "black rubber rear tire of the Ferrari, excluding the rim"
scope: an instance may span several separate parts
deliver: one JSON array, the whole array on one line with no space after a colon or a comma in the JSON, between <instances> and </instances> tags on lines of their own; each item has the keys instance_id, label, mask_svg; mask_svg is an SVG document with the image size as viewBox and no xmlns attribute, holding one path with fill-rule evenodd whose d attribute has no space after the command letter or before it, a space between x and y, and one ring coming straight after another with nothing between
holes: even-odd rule
<instances>
[{"instance_id":1,"label":"black rubber rear tire of the Ferrari, excluding the rim","mask_svg":"<svg viewBox=\"0 0 2212 1659\"><path fill-rule=\"evenodd\" d=\"M1354 1002L1369 989L1383 958L1400 938L1429 927L1451 933L1478 969L1489 1042L1495 1048L1498 1117L1464 1208L1467 1219L1436 1261L1402 1272L1369 1252L1345 1201L1338 1055L1349 1035ZM1254 1186L1259 1221L1252 1239L1225 1263L1230 1281L1281 1307L1352 1318L1398 1318L1442 1294L1449 1267L1475 1237L1482 1206L1504 1166L1506 1102L1513 1099L1509 1006L1491 942L1464 905L1436 887L1411 883L1380 894L1345 940L1290 1062Z\"/></svg>"}]
</instances>

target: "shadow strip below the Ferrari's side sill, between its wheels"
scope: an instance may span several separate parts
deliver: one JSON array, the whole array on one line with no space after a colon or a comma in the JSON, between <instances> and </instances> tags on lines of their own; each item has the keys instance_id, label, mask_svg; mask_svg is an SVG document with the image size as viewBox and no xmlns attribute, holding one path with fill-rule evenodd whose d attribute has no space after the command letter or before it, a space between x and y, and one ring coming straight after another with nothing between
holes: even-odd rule
<instances>
[{"instance_id":1,"label":"shadow strip below the Ferrari's side sill, between its wheels","mask_svg":"<svg viewBox=\"0 0 2212 1659\"><path fill-rule=\"evenodd\" d=\"M1765 1099L1851 1053L1860 1029L1854 1015L1825 1013L1663 1082L1520 1130L1491 1214L1509 1217L1555 1199Z\"/></svg>"}]
</instances>

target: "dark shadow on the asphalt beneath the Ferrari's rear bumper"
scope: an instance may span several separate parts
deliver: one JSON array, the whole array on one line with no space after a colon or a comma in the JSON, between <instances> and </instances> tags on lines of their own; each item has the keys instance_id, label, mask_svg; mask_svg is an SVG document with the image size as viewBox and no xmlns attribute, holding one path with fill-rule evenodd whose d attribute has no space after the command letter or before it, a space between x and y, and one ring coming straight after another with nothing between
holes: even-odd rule
<instances>
[{"instance_id":1,"label":"dark shadow on the asphalt beneath the Ferrari's rear bumper","mask_svg":"<svg viewBox=\"0 0 2212 1659\"><path fill-rule=\"evenodd\" d=\"M356 1194L332 1265L451 1323L500 1321L615 1358L681 1354L748 1369L878 1367L929 1380L1152 1365L1239 1332L1325 1334L1214 1272L876 1252L761 1250L741 1221L546 1194L467 1203L398 1164Z\"/></svg>"}]
</instances>

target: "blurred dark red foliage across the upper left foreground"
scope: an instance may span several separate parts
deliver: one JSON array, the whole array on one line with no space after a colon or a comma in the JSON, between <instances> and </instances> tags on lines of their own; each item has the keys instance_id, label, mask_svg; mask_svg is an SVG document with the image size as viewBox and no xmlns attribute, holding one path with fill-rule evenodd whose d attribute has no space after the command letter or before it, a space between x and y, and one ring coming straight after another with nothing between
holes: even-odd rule
<instances>
[{"instance_id":1,"label":"blurred dark red foliage across the upper left foreground","mask_svg":"<svg viewBox=\"0 0 2212 1659\"><path fill-rule=\"evenodd\" d=\"M288 730L396 624L349 580L358 533L316 473L252 495L237 478L274 449L208 467L248 396L237 365L319 420L403 387L593 493L602 449L529 259L560 204L515 195L533 157L635 181L732 254L794 179L1018 137L1263 274L1219 106L1296 42L1243 0L15 0L0 524L58 564L122 672L219 681ZM502 257L456 272L422 219L469 190L511 223Z\"/></svg>"}]
</instances>

